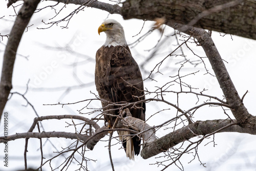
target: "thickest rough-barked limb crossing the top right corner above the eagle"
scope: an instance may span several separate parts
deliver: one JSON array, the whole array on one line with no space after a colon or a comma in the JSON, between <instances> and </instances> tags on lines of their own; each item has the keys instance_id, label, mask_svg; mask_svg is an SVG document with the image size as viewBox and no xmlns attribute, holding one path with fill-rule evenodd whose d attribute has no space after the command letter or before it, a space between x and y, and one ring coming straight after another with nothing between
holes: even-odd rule
<instances>
[{"instance_id":1,"label":"thickest rough-barked limb crossing the top right corner above the eagle","mask_svg":"<svg viewBox=\"0 0 256 171\"><path fill-rule=\"evenodd\" d=\"M191 24L198 28L256 39L256 1L252 0L127 0L121 15L124 19L164 17L184 25L194 20Z\"/></svg>"}]
</instances>

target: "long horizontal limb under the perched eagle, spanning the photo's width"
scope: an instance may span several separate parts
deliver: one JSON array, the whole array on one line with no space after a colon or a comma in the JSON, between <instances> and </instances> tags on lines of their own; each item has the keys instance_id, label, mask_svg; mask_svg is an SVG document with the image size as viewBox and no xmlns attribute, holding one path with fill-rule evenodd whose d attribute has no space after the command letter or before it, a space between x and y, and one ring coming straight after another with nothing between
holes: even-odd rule
<instances>
[{"instance_id":1,"label":"long horizontal limb under the perched eagle, spanning the photo's width","mask_svg":"<svg viewBox=\"0 0 256 171\"><path fill-rule=\"evenodd\" d=\"M64 117L63 117L64 116ZM63 119L63 118L71 118L69 115L58 116L44 116L35 118L34 120L44 120L44 119ZM73 117L72 117L73 118ZM74 118L75 119L75 118ZM77 116L76 119L84 120L84 117L80 118ZM87 120L87 119L86 119ZM89 122L88 122L89 123ZM34 123L33 123L34 124ZM16 133L15 135L10 135L7 137L0 137L0 143L16 140L20 138L70 138L77 139L87 144L89 149L93 149L96 143L103 138L108 131L115 130L126 130L126 129L118 129L118 127L127 126L132 128L134 135L138 135L143 137L143 149L141 151L141 156L144 159L155 156L159 153L167 151L169 148L177 145L180 142L188 140L190 138L200 136L200 135L209 135L215 134L217 132L238 132L238 133L249 133L256 135L256 131L251 132L250 128L243 128L238 125L236 120L206 120L206 121L197 121L195 123L189 124L187 126L182 127L179 130L176 130L172 133L169 133L159 139L155 136L155 129L151 127L144 121L133 118L132 116L127 116L121 120L119 120L116 125L117 129L108 129L106 126L97 129L97 131L92 135L81 135L77 133L66 133L66 132L42 132L42 133ZM32 127L32 126L31 126ZM126 130L127 131L127 130ZM131 131L131 130L130 130ZM137 134L136 134L137 132Z\"/></svg>"}]
</instances>

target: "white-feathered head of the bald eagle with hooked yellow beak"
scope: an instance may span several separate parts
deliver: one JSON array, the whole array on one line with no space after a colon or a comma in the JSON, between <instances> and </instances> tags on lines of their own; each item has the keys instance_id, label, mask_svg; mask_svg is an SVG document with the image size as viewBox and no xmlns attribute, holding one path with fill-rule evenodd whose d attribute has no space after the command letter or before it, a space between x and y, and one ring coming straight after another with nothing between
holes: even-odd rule
<instances>
[{"instance_id":1,"label":"white-feathered head of the bald eagle with hooked yellow beak","mask_svg":"<svg viewBox=\"0 0 256 171\"><path fill-rule=\"evenodd\" d=\"M106 41L103 46L127 46L123 27L115 19L105 20L98 28L98 33L106 33Z\"/></svg>"}]
</instances>

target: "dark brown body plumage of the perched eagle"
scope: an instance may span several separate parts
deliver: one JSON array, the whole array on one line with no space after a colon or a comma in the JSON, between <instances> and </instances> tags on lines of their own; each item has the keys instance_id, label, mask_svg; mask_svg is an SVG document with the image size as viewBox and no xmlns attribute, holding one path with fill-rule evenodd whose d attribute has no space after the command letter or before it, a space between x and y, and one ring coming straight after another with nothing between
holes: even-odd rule
<instances>
[{"instance_id":1,"label":"dark brown body plumage of the perched eagle","mask_svg":"<svg viewBox=\"0 0 256 171\"><path fill-rule=\"evenodd\" d=\"M102 46L96 53L95 84L99 97L106 100L101 102L103 110L111 115L119 115L120 106L109 105L109 102L137 102L145 99L143 80L139 67L131 55L129 47ZM133 117L145 120L145 103L130 105ZM104 115L105 122L113 126L116 117ZM133 138L135 155L140 152L140 139ZM125 144L124 144L124 148Z\"/></svg>"}]
</instances>

